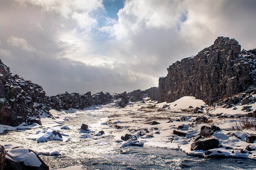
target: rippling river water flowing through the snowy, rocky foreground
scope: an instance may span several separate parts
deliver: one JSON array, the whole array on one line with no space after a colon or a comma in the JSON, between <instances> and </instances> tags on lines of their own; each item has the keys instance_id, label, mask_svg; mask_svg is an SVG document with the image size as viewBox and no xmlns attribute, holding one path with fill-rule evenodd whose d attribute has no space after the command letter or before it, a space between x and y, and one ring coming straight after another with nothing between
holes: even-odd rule
<instances>
[{"instance_id":1,"label":"rippling river water flowing through the snowy, rocky foreground","mask_svg":"<svg viewBox=\"0 0 256 170\"><path fill-rule=\"evenodd\" d=\"M97 116L95 116L97 115ZM28 148L57 148L61 156L40 157L49 167L63 168L72 165L83 165L85 169L124 169L124 170L148 170L148 169L256 169L256 161L242 158L211 158L189 156L188 154L166 148L149 148L129 146L119 148L113 142L113 137L95 139L80 139L79 128L82 123L91 124L106 117L106 112L100 110L85 111L65 125L70 130L63 130L72 136L68 142L49 141L36 143L26 139L26 136L34 134L38 129L18 130L7 132L0 136L2 141L21 143ZM101 145L101 142L107 144Z\"/></svg>"}]
</instances>

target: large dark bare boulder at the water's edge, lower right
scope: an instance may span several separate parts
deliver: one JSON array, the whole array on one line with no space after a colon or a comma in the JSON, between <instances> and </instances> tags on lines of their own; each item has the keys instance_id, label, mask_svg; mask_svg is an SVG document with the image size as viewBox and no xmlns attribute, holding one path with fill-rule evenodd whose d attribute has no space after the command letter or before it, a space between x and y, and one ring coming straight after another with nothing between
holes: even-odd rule
<instances>
[{"instance_id":1,"label":"large dark bare boulder at the water's edge, lower right","mask_svg":"<svg viewBox=\"0 0 256 170\"><path fill-rule=\"evenodd\" d=\"M197 140L194 143L191 144L191 151L194 150L203 150L207 151L209 149L217 148L219 144L219 141L215 138L205 138L201 140Z\"/></svg>"}]
</instances>

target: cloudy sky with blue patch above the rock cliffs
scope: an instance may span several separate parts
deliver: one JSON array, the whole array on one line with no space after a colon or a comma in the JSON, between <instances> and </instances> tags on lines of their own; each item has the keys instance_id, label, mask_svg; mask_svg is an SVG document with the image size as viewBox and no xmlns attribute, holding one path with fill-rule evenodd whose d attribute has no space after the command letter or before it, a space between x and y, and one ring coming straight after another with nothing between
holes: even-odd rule
<instances>
[{"instance_id":1,"label":"cloudy sky with blue patch above the rock cliffs","mask_svg":"<svg viewBox=\"0 0 256 170\"><path fill-rule=\"evenodd\" d=\"M219 36L256 48L255 9L256 0L1 0L0 59L48 96L145 90Z\"/></svg>"}]
</instances>

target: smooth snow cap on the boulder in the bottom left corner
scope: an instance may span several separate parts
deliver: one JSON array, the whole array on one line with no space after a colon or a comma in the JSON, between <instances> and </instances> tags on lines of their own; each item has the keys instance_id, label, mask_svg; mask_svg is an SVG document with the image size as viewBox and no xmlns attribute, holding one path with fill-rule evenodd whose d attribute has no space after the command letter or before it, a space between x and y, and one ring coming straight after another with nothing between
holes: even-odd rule
<instances>
[{"instance_id":1,"label":"smooth snow cap on the boulder in the bottom left corner","mask_svg":"<svg viewBox=\"0 0 256 170\"><path fill-rule=\"evenodd\" d=\"M8 155L17 162L24 162L24 165L32 167L40 167L42 163L36 157L36 154L29 151L28 148L15 148L8 150Z\"/></svg>"}]
</instances>

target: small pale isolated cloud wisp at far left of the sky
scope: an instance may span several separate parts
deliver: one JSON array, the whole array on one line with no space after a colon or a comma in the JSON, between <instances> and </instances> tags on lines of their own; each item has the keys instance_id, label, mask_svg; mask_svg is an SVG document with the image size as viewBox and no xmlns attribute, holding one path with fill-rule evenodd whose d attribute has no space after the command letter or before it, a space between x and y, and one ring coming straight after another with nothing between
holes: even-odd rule
<instances>
[{"instance_id":1,"label":"small pale isolated cloud wisp at far left of the sky","mask_svg":"<svg viewBox=\"0 0 256 170\"><path fill-rule=\"evenodd\" d=\"M7 40L8 45L21 48L25 51L29 52L37 52L36 48L34 48L32 45L30 45L24 38L17 38L14 36L11 36Z\"/></svg>"}]
</instances>

